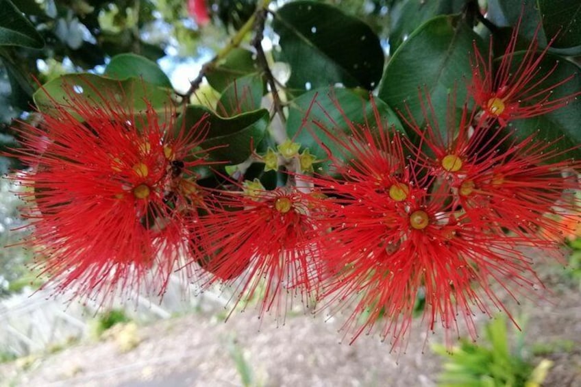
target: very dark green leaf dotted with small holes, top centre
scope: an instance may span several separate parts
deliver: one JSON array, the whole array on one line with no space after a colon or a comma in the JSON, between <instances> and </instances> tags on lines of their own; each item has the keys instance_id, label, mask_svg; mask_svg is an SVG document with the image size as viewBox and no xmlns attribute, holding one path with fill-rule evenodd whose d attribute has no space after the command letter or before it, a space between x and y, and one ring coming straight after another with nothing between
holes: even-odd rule
<instances>
[{"instance_id":1,"label":"very dark green leaf dotted with small holes, top centre","mask_svg":"<svg viewBox=\"0 0 581 387\"><path fill-rule=\"evenodd\" d=\"M277 60L290 65L289 88L342 83L372 90L378 84L384 53L378 36L359 19L331 5L295 1L275 12L273 29L282 47Z\"/></svg>"}]
</instances>

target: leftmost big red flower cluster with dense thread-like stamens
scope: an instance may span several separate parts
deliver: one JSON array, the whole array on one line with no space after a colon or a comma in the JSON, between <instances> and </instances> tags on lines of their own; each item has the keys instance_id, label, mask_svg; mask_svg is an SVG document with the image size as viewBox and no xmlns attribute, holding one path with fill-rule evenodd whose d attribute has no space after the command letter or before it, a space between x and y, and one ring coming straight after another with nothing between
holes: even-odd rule
<instances>
[{"instance_id":1,"label":"leftmost big red flower cluster with dense thread-like stamens","mask_svg":"<svg viewBox=\"0 0 581 387\"><path fill-rule=\"evenodd\" d=\"M160 120L147 101L134 112L96 88L97 101L70 86L40 127L19 129L13 153L31 166L17 177L33 229L26 243L60 290L162 292L180 254L201 254L190 240L206 204L190 168L207 164L195 153L206 123L175 129L171 107Z\"/></svg>"}]
</instances>

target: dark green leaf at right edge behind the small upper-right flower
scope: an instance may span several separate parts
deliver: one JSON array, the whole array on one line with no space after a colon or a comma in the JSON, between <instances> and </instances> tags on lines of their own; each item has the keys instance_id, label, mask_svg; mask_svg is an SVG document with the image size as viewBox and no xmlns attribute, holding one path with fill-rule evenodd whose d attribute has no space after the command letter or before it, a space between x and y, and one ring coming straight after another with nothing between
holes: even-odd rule
<instances>
[{"instance_id":1,"label":"dark green leaf at right edge behind the small upper-right flower","mask_svg":"<svg viewBox=\"0 0 581 387\"><path fill-rule=\"evenodd\" d=\"M519 58L523 53L515 53L515 62L520 62ZM552 90L552 99L558 99L573 95L581 90L581 68L573 62L564 60L556 55L547 55L541 68L552 68L555 61L559 64L556 70L547 77L541 84L538 90ZM563 79L576 74L566 84L553 88L555 84L561 82ZM544 75L544 73L543 73ZM549 112L542 116L527 118L518 121L512 121L510 125L515 127L517 137L526 138L536 132L536 138L547 142L554 143L552 149L564 152L555 160L565 160L568 158L575 158L581 160L581 149L578 147L581 144L581 99L573 99L563 108Z\"/></svg>"}]
</instances>

